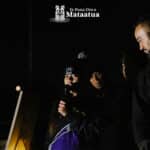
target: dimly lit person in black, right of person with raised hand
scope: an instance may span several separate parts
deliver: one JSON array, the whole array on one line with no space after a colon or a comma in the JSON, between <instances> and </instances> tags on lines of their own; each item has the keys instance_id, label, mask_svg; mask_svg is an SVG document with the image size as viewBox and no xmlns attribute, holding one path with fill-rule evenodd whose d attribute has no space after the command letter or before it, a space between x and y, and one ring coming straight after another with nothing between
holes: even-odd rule
<instances>
[{"instance_id":1,"label":"dimly lit person in black, right of person with raised hand","mask_svg":"<svg viewBox=\"0 0 150 150\"><path fill-rule=\"evenodd\" d=\"M84 126L79 129L80 149L100 149L101 135L107 126L104 112L105 84L103 71L95 64L89 67L86 94L80 102Z\"/></svg>"}]
</instances>

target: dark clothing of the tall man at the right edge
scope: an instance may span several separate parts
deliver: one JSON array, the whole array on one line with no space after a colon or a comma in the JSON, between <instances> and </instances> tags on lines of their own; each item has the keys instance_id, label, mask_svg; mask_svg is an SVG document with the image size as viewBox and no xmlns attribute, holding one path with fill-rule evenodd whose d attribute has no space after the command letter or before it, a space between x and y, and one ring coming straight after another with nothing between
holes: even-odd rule
<instances>
[{"instance_id":1,"label":"dark clothing of the tall man at the right edge","mask_svg":"<svg viewBox=\"0 0 150 150\"><path fill-rule=\"evenodd\" d=\"M140 150L148 150L146 147L150 141L150 60L148 61L139 73L133 91L133 131Z\"/></svg>"}]
</instances>

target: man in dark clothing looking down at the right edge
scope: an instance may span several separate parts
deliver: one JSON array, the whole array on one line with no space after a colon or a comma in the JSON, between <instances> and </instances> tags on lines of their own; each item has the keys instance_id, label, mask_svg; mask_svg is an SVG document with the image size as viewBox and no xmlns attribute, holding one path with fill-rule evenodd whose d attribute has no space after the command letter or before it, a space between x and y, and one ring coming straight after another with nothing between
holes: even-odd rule
<instances>
[{"instance_id":1,"label":"man in dark clothing looking down at the right edge","mask_svg":"<svg viewBox=\"0 0 150 150\"><path fill-rule=\"evenodd\" d=\"M139 49L147 55L147 64L138 74L133 91L133 131L139 150L150 150L150 16L135 26L134 36Z\"/></svg>"}]
</instances>

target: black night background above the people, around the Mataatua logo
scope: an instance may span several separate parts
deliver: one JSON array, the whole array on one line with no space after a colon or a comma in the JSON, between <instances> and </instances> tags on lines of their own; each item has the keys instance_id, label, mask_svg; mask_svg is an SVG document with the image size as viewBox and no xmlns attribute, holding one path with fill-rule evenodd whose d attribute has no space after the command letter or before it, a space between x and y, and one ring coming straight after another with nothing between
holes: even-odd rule
<instances>
[{"instance_id":1,"label":"black night background above the people, around the Mataatua logo","mask_svg":"<svg viewBox=\"0 0 150 150\"><path fill-rule=\"evenodd\" d=\"M112 81L119 77L122 50L129 55L131 66L136 66L139 54L133 38L133 23L139 15L149 13L146 0L52 1L50 6L48 1L40 0L33 4L32 9L31 2L25 0L7 1L0 5L0 95L3 113L5 108L11 109L16 100L13 91L16 84L28 88L32 80L35 87L40 88L62 83L60 76L64 65L80 50L87 50L91 59L102 63ZM100 11L101 19L50 23L49 8L56 4L95 7Z\"/></svg>"}]
</instances>

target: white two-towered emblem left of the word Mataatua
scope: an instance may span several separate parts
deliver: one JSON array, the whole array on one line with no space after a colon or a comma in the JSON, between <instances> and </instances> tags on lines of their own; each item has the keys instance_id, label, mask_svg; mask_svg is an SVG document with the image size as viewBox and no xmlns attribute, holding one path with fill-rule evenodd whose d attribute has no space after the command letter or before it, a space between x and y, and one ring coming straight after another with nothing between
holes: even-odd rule
<instances>
[{"instance_id":1,"label":"white two-towered emblem left of the word Mataatua","mask_svg":"<svg viewBox=\"0 0 150 150\"><path fill-rule=\"evenodd\" d=\"M55 18L52 18L51 21L60 23L69 21L68 18L65 18L65 5L55 6Z\"/></svg>"}]
</instances>

